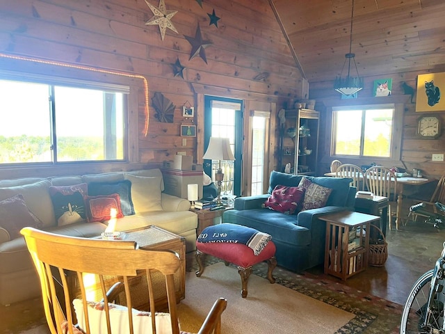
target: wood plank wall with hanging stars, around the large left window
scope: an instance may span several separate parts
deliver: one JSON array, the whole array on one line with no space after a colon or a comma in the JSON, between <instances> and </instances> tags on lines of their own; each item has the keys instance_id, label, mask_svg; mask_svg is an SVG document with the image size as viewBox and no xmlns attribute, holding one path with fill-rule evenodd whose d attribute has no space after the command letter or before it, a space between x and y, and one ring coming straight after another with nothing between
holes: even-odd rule
<instances>
[{"instance_id":1,"label":"wood plank wall with hanging stars, around the large left window","mask_svg":"<svg viewBox=\"0 0 445 334\"><path fill-rule=\"evenodd\" d=\"M159 6L158 0L147 1ZM198 120L197 116L193 120L182 117L183 105L200 110L196 87L210 94L277 105L290 96L301 97L300 72L268 0L206 0L202 1L202 8L195 0L165 0L165 7L177 10L171 22L179 33L167 29L161 40L159 26L145 25L153 15L144 0L1 1L2 54L141 74L149 81L150 114L148 135L144 136L143 89L139 86L138 134L130 134L138 136L133 167L96 164L65 167L63 171L24 168L0 170L0 178L159 165L179 151L193 155L197 161L202 154L196 151L202 137L200 124L198 136L187 138L185 145L179 132L181 124L196 124ZM208 14L213 9L220 17L218 27L209 25ZM205 49L207 64L199 56L189 59L191 45L184 37L195 36L198 24L203 40L212 43ZM174 76L172 64L177 59L186 67L184 79ZM0 57L0 70L33 72L38 67ZM155 92L175 104L174 122L159 122L155 118L151 100Z\"/></svg>"}]
</instances>

